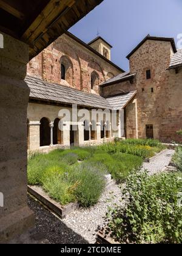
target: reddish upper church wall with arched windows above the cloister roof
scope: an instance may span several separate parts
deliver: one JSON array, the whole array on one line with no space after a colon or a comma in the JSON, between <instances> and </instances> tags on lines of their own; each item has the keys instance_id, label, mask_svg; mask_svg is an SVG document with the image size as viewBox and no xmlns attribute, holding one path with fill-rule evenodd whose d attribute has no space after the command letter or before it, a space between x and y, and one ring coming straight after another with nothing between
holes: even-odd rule
<instances>
[{"instance_id":1,"label":"reddish upper church wall with arched windows above the cloister roof","mask_svg":"<svg viewBox=\"0 0 182 256\"><path fill-rule=\"evenodd\" d=\"M66 80L61 80L62 60L69 64L69 75ZM99 79L94 91L91 91L91 74L93 71L98 74ZM108 73L116 76L121 73L121 70L66 34L50 44L27 66L27 74L30 76L89 93L99 93L99 84L106 81Z\"/></svg>"}]
</instances>

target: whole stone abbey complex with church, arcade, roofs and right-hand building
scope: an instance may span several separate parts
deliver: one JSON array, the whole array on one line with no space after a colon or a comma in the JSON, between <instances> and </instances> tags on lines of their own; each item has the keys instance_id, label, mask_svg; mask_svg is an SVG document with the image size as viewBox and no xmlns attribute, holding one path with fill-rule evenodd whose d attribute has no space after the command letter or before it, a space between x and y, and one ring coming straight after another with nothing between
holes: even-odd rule
<instances>
[{"instance_id":1,"label":"whole stone abbey complex with church, arcade, roofs and right-hand building","mask_svg":"<svg viewBox=\"0 0 182 256\"><path fill-rule=\"evenodd\" d=\"M182 49L173 38L147 35L129 55L130 70L111 62L112 46L97 37L89 44L66 32L27 67L25 81L30 88L28 148L89 146L115 137L156 138L163 142L181 141L182 128ZM118 131L84 130L84 124L70 122L70 130L59 130L61 108L118 111ZM124 110L124 134L120 127ZM104 124L104 120L103 120ZM74 130L77 126L78 130Z\"/></svg>"}]
</instances>

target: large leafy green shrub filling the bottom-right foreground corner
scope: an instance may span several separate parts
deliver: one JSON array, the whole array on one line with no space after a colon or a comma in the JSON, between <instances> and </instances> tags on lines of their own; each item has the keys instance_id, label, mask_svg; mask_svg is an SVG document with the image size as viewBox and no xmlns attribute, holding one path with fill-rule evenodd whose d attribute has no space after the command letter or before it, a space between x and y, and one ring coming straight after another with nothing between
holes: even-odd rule
<instances>
[{"instance_id":1,"label":"large leafy green shrub filling the bottom-right foreground corner","mask_svg":"<svg viewBox=\"0 0 182 256\"><path fill-rule=\"evenodd\" d=\"M181 243L181 191L177 174L133 173L123 190L126 205L107 215L108 231L120 243Z\"/></svg>"}]
</instances>

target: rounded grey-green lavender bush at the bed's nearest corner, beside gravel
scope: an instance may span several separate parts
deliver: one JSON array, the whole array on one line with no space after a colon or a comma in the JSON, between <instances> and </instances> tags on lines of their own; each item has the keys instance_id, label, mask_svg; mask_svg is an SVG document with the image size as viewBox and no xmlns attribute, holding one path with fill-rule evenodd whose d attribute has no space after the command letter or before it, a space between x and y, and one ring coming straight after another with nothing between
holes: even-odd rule
<instances>
[{"instance_id":1,"label":"rounded grey-green lavender bush at the bed's nearest corner, beside gravel","mask_svg":"<svg viewBox=\"0 0 182 256\"><path fill-rule=\"evenodd\" d=\"M81 207L95 205L106 185L104 174L89 163L78 165L74 171L70 172L69 180L71 183L78 184L74 193Z\"/></svg>"}]
</instances>

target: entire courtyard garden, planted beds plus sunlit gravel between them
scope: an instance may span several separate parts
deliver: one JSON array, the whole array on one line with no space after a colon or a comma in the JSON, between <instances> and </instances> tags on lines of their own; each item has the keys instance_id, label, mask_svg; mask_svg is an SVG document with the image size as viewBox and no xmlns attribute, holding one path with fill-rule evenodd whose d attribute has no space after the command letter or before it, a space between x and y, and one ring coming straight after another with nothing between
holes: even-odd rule
<instances>
[{"instance_id":1,"label":"entire courtyard garden, planted beds plus sunlit gravel between them","mask_svg":"<svg viewBox=\"0 0 182 256\"><path fill-rule=\"evenodd\" d=\"M95 241L97 223L119 243L181 243L182 147L175 154L168 150L157 157L164 166L174 154L176 172L153 170L149 175L145 166L141 168L146 158L164 149L157 140L115 140L97 147L30 154L29 185L40 186L61 205L78 202L83 210L64 222L76 232L86 233L90 243ZM146 163L149 165L156 168L155 162ZM111 195L105 190L107 174L119 185ZM108 205L107 197L111 200Z\"/></svg>"}]
</instances>

